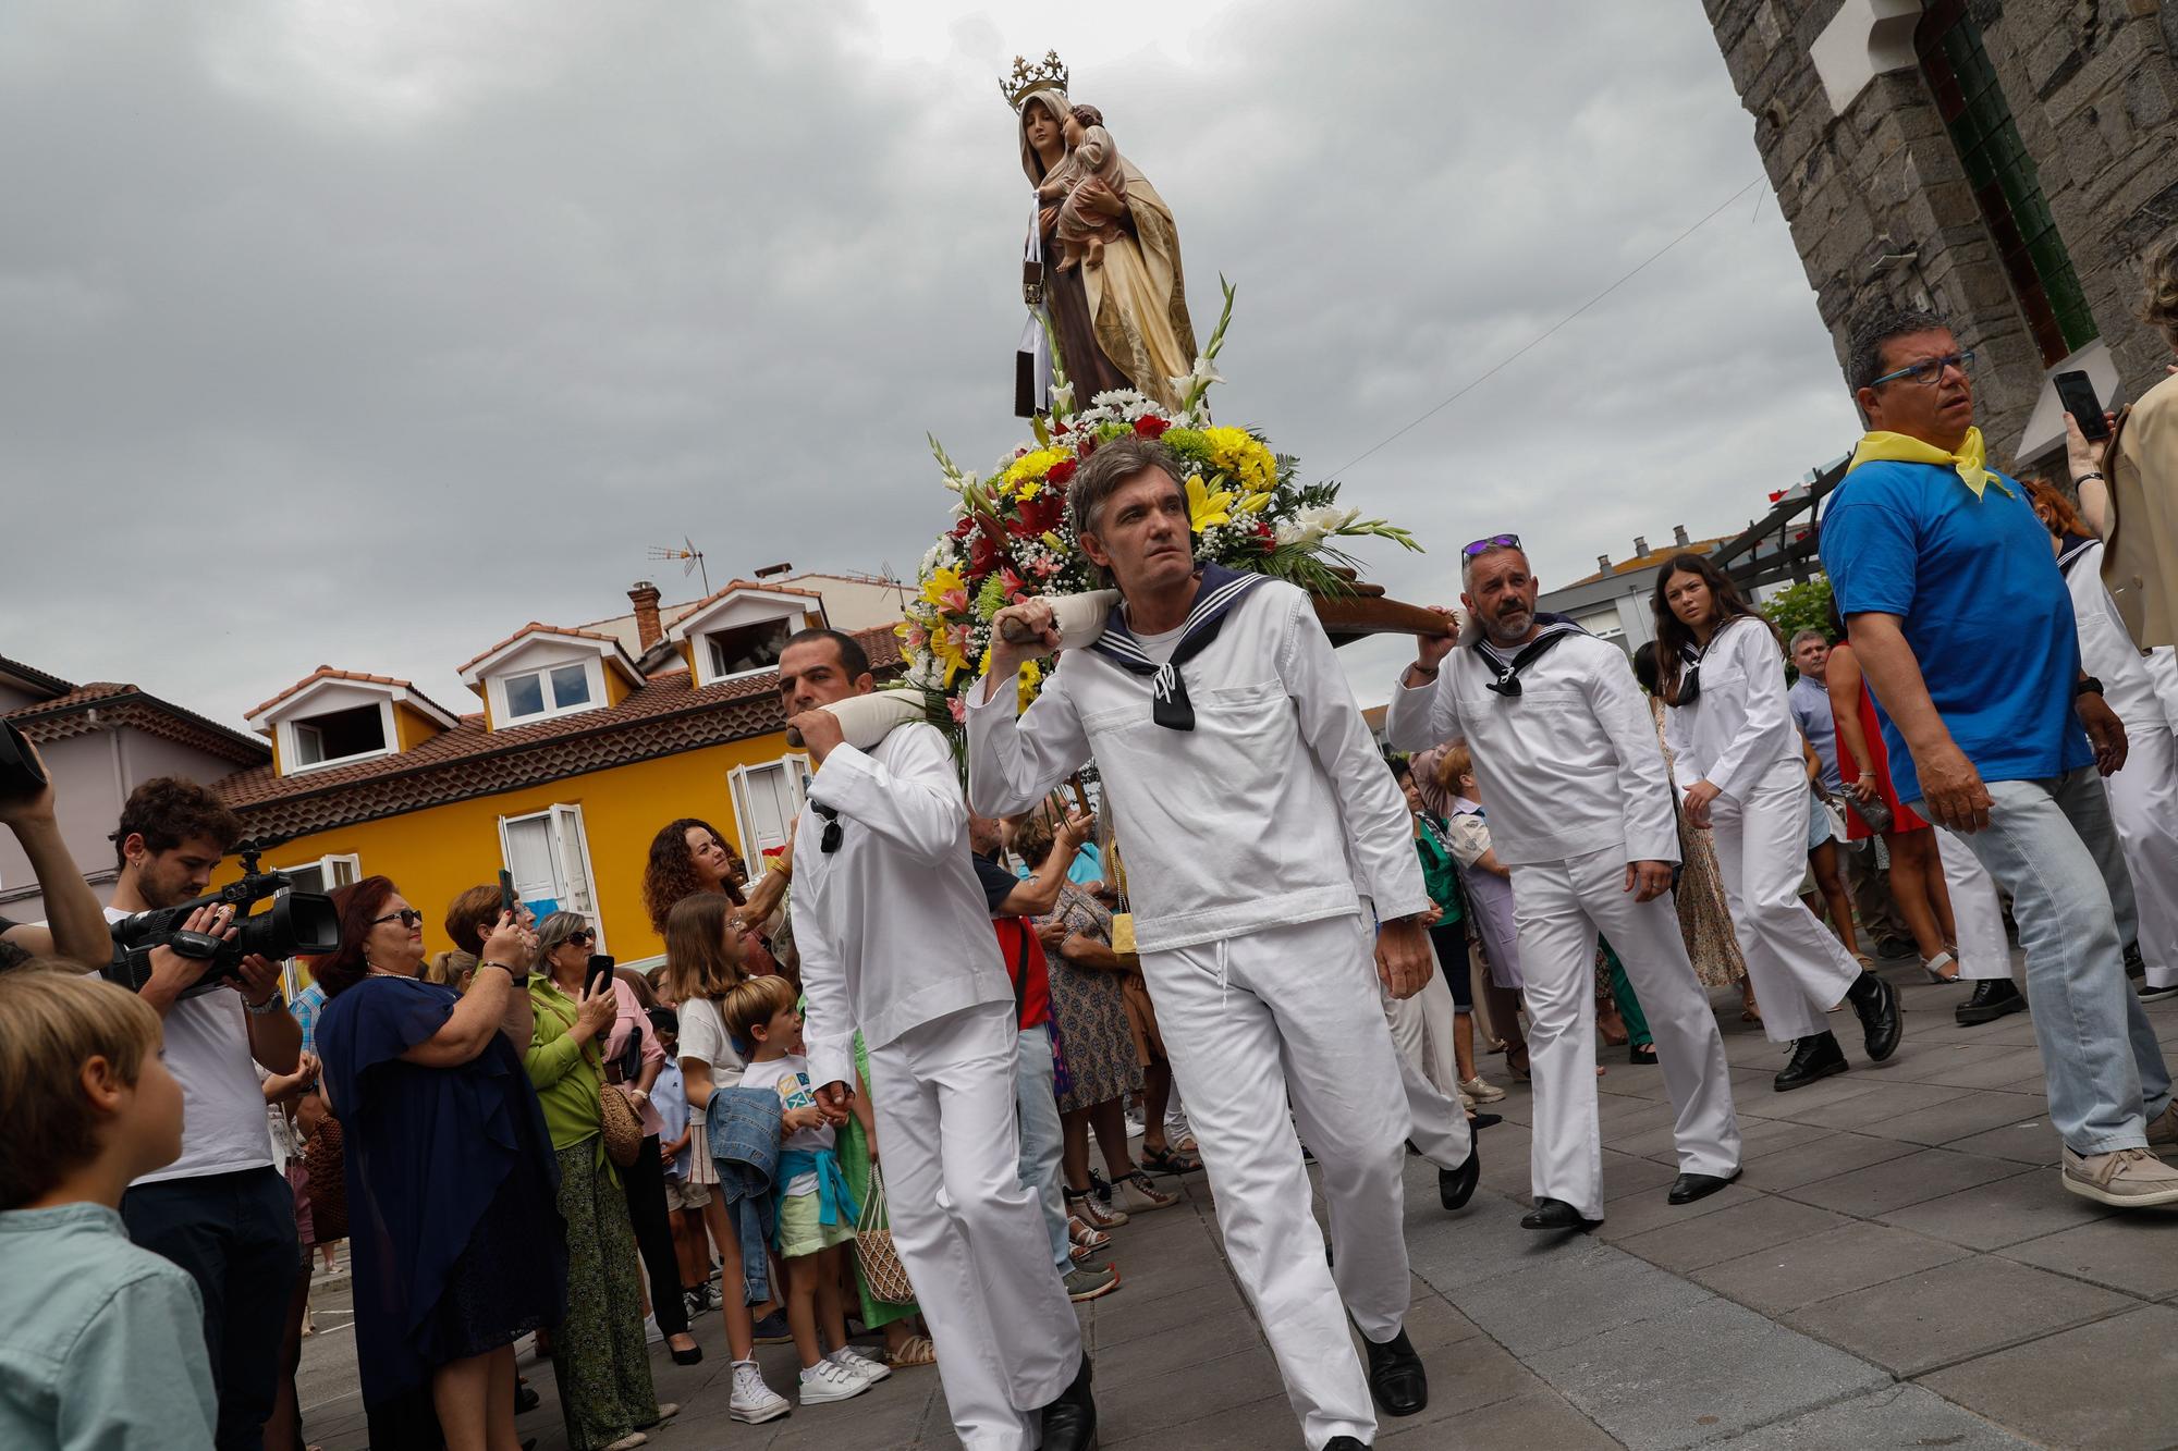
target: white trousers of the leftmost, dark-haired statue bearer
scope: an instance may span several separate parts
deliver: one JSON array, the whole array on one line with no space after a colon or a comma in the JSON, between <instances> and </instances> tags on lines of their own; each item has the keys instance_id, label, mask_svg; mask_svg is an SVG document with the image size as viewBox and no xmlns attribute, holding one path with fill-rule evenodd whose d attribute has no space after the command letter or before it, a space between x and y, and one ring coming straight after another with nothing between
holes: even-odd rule
<instances>
[{"instance_id":1,"label":"white trousers of the leftmost, dark-haired statue bearer","mask_svg":"<svg viewBox=\"0 0 2178 1451\"><path fill-rule=\"evenodd\" d=\"M893 1248L969 1451L1032 1451L1037 1412L1082 1359L1043 1207L1021 1185L1013 1022L1011 1002L984 1002L869 1050Z\"/></svg>"}]
</instances>

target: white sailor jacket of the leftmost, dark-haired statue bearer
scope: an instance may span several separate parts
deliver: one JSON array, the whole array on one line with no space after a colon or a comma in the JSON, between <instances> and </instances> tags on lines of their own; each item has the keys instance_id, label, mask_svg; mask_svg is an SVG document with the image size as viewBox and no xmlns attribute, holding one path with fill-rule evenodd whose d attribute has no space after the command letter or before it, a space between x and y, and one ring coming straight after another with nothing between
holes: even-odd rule
<instances>
[{"instance_id":1,"label":"white sailor jacket of the leftmost, dark-haired statue bearer","mask_svg":"<svg viewBox=\"0 0 2178 1451\"><path fill-rule=\"evenodd\" d=\"M823 850L839 813L839 850ZM980 1002L1013 1002L952 747L932 726L869 752L839 745L795 830L795 946L808 993L812 1083L854 1083L854 1031L880 1048Z\"/></svg>"}]
</instances>

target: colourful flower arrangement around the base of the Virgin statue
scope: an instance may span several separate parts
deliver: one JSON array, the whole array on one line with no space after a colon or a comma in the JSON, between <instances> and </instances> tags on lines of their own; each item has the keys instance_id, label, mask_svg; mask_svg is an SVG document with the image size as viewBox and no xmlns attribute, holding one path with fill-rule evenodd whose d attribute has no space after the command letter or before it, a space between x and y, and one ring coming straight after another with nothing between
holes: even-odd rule
<instances>
[{"instance_id":1,"label":"colourful flower arrangement around the base of the Virgin statue","mask_svg":"<svg viewBox=\"0 0 2178 1451\"><path fill-rule=\"evenodd\" d=\"M1220 279L1222 281L1222 279ZM1113 438L1159 438L1187 468L1187 514L1198 560L1272 575L1313 595L1353 590L1353 556L1335 540L1385 538L1420 551L1414 536L1383 519L1339 505L1333 481L1300 484L1298 460L1274 453L1255 429L1213 425L1204 399L1222 383L1215 362L1233 320L1233 285L1224 285L1218 331L1187 377L1172 379L1180 407L1165 412L1133 390L1100 392L1074 407L1074 390L1054 355L1050 420L1035 418L1035 438L1002 458L989 477L954 464L937 438L930 451L954 492L954 525L923 553L917 597L900 636L908 654L906 684L930 697L937 721L958 723L965 691L991 662L991 619L1035 595L1100 588L1067 523L1067 484L1082 460ZM1021 708L1041 686L1039 664L1021 667Z\"/></svg>"}]
</instances>

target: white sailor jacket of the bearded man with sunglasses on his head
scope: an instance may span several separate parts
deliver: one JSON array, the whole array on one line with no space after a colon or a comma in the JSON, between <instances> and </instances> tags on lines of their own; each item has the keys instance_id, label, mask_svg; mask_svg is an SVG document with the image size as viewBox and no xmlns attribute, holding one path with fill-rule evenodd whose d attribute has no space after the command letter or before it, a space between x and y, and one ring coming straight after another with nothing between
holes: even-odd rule
<instances>
[{"instance_id":1,"label":"white sailor jacket of the bearded man with sunglasses on his head","mask_svg":"<svg viewBox=\"0 0 2178 1451\"><path fill-rule=\"evenodd\" d=\"M1392 686L1385 736L1403 752L1466 741L1507 867L1620 848L1627 861L1679 861L1671 778L1655 721L1625 654L1573 634L1496 695L1472 649L1444 658L1435 684Z\"/></svg>"}]
</instances>

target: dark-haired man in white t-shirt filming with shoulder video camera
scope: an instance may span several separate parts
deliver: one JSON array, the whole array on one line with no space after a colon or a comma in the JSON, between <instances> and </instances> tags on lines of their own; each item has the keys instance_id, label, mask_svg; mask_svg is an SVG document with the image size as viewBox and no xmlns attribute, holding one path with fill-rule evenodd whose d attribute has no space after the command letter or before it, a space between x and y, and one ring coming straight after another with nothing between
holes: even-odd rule
<instances>
[{"instance_id":1,"label":"dark-haired man in white t-shirt filming with shoulder video camera","mask_svg":"<svg viewBox=\"0 0 2178 1451\"><path fill-rule=\"evenodd\" d=\"M242 824L211 791L179 776L129 793L113 832L120 876L107 922L176 906L205 893ZM213 909L211 937L231 932L233 906ZM59 926L59 913L54 915ZM11 932L30 952L50 952L44 928ZM105 967L111 943L94 963ZM139 996L166 1020L166 1065L181 1081L181 1157L129 1185L129 1237L166 1255L205 1296L205 1344L220 1392L220 1451L259 1451L279 1383L281 1331L296 1275L294 1194L272 1168L272 1137L257 1070L292 1074L303 1028L281 998L279 963L244 956L211 985L213 959L170 946L148 954Z\"/></svg>"}]
</instances>

